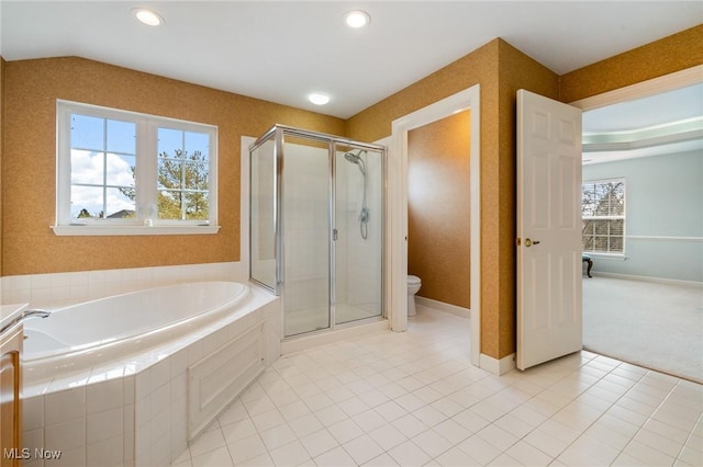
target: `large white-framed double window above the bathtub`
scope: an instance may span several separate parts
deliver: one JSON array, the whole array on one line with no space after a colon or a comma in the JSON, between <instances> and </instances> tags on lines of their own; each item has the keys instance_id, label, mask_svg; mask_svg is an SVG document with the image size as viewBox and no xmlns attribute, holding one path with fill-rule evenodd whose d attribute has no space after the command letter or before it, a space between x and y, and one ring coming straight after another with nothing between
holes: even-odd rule
<instances>
[{"instance_id":1,"label":"large white-framed double window above the bathtub","mask_svg":"<svg viewBox=\"0 0 703 467\"><path fill-rule=\"evenodd\" d=\"M55 232L216 232L216 130L58 101Z\"/></svg>"}]
</instances>

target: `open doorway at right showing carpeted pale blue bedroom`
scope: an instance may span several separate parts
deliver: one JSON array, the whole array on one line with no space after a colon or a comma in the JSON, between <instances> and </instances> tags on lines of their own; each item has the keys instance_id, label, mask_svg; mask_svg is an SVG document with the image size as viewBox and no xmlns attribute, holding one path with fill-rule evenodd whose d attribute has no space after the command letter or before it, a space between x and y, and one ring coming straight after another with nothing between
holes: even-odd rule
<instances>
[{"instance_id":1,"label":"open doorway at right showing carpeted pale blue bedroom","mask_svg":"<svg viewBox=\"0 0 703 467\"><path fill-rule=\"evenodd\" d=\"M691 203L701 198L703 138L691 125L703 119L702 73L695 67L573 103L585 110L583 180L616 175L625 195L625 227L614 232L624 248L591 253L594 274L583 278L584 346L699 381L703 221Z\"/></svg>"}]
</instances>

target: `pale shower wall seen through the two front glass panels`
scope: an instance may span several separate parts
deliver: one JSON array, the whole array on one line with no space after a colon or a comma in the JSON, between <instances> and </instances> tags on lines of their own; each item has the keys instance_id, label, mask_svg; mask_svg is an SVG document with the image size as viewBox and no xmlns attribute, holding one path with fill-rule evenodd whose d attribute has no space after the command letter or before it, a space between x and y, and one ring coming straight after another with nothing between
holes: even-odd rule
<instances>
[{"instance_id":1,"label":"pale shower wall seen through the two front glass panels","mask_svg":"<svg viewBox=\"0 0 703 467\"><path fill-rule=\"evenodd\" d=\"M286 310L327 306L328 167L327 150L287 146L284 173ZM379 304L381 292L382 173L380 158L367 158L369 236L359 232L364 178L357 166L337 158L337 303ZM378 229L378 231L377 231Z\"/></svg>"}]
</instances>

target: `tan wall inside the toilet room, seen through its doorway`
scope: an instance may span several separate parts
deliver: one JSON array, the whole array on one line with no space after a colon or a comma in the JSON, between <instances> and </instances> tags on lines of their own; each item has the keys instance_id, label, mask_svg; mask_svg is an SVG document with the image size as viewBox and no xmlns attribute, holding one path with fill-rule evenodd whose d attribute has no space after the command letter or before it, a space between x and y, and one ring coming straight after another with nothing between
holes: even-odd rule
<instances>
[{"instance_id":1,"label":"tan wall inside the toilet room, seen through its doorway","mask_svg":"<svg viewBox=\"0 0 703 467\"><path fill-rule=\"evenodd\" d=\"M408 133L408 272L419 295L470 308L470 112Z\"/></svg>"}]
</instances>

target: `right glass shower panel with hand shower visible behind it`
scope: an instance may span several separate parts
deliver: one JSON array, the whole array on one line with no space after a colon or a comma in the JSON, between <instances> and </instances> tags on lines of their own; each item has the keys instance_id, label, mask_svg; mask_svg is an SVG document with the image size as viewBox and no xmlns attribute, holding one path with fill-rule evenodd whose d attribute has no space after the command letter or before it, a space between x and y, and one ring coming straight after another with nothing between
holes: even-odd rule
<instances>
[{"instance_id":1,"label":"right glass shower panel with hand shower visible behind it","mask_svg":"<svg viewBox=\"0 0 703 467\"><path fill-rule=\"evenodd\" d=\"M343 324L381 316L382 152L337 145L334 180L334 318Z\"/></svg>"}]
</instances>

